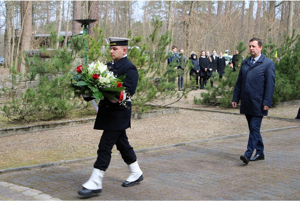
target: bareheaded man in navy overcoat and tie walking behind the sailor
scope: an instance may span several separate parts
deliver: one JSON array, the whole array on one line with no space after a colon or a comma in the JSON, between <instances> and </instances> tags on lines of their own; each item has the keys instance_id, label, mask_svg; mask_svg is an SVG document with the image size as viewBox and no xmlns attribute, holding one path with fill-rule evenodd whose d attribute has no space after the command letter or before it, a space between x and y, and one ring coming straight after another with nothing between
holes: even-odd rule
<instances>
[{"instance_id":1,"label":"bareheaded man in navy overcoat and tie walking behind the sailor","mask_svg":"<svg viewBox=\"0 0 300 201\"><path fill-rule=\"evenodd\" d=\"M265 57L262 41L252 38L249 41L250 57L241 63L241 69L235 84L232 106L235 108L241 100L240 113L245 114L249 127L247 151L241 155L243 163L264 160L264 145L260 135L262 117L268 115L275 87L275 64ZM254 149L256 154L252 156Z\"/></svg>"}]
</instances>

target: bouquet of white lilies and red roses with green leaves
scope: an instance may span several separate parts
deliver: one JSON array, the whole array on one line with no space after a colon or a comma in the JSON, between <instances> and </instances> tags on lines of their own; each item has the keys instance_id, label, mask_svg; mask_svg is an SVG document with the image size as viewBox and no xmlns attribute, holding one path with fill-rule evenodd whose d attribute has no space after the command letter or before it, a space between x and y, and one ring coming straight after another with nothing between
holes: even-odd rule
<instances>
[{"instance_id":1,"label":"bouquet of white lilies and red roses with green leaves","mask_svg":"<svg viewBox=\"0 0 300 201\"><path fill-rule=\"evenodd\" d=\"M79 65L76 67L76 73L71 74L73 77L70 87L74 91L74 97L88 95L101 100L105 96L110 100L116 100L120 94L125 95L125 87L122 87L122 84L126 74L116 78L113 72L107 69L107 65L100 61L87 66Z\"/></svg>"}]
</instances>

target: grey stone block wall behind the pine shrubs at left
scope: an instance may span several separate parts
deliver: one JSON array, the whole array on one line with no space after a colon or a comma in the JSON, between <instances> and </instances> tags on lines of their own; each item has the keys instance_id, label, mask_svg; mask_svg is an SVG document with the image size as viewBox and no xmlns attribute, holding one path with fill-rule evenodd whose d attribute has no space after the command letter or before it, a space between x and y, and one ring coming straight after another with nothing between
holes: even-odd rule
<instances>
[{"instance_id":1,"label":"grey stone block wall behind the pine shrubs at left","mask_svg":"<svg viewBox=\"0 0 300 201\"><path fill-rule=\"evenodd\" d=\"M42 60L49 59L51 49L48 50L49 53L42 53L40 50L25 50L25 54L28 55L28 57L33 57L34 55L37 55L41 57ZM81 65L83 63L83 58L75 58L73 62L73 66L76 67L78 65ZM20 80L20 83L18 86L14 87L13 91L11 92L10 96L16 96L21 97L22 94L29 88L34 87L36 88L39 81L40 81L41 75L38 74L32 81L29 81L28 78L22 77L17 78L17 80ZM13 76L10 74L9 69L0 67L0 95L3 94L2 89L11 89L13 87L12 82ZM5 99L7 96L5 94L0 96L0 99Z\"/></svg>"}]
</instances>

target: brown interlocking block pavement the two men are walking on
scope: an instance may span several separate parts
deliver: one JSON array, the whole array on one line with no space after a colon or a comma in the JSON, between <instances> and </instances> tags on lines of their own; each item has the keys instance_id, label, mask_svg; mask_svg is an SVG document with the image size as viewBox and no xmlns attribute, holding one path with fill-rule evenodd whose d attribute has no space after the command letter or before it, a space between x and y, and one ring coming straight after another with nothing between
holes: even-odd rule
<instances>
[{"instance_id":1,"label":"brown interlocking block pavement the two men are walking on","mask_svg":"<svg viewBox=\"0 0 300 201\"><path fill-rule=\"evenodd\" d=\"M133 187L122 187L129 172L120 156L113 157L102 193L86 200L300 200L300 128L263 133L262 139L265 160L249 165L239 159L248 136L137 153L144 180ZM93 163L6 173L0 181L82 200L77 190ZM6 190L0 186L0 200L18 200L3 196Z\"/></svg>"}]
</instances>

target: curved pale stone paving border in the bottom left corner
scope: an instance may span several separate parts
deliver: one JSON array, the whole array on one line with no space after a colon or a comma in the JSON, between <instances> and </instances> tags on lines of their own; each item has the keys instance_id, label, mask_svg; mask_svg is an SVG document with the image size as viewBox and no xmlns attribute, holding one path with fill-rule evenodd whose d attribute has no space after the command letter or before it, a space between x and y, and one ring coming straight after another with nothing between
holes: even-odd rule
<instances>
[{"instance_id":1,"label":"curved pale stone paving border in the bottom left corner","mask_svg":"<svg viewBox=\"0 0 300 201\"><path fill-rule=\"evenodd\" d=\"M42 191L31 189L31 188L24 187L24 186L18 186L18 185L15 185L15 184L9 184L7 182L1 182L0 181L0 186L2 186L4 188L7 188L7 189L17 191L11 196L13 198L15 198L16 196L20 196L20 198L21 198L20 200L25 199L26 198L25 196L28 196L28 198L31 197L35 200L61 200L61 199L49 196L49 195L43 193ZM8 200L11 200L10 196L7 196L5 198L7 198ZM13 200L15 200L15 199L13 199Z\"/></svg>"}]
</instances>

